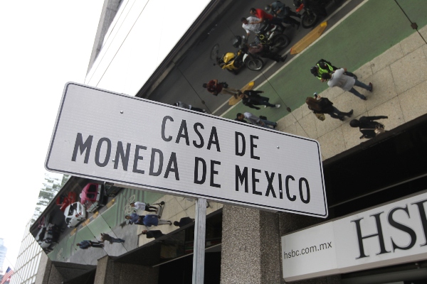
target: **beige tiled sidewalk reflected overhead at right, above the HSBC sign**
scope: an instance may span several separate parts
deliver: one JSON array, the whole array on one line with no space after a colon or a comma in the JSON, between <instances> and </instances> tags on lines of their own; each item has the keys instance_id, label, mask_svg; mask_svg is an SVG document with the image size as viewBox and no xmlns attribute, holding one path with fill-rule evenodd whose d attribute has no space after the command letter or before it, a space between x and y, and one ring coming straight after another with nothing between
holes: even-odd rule
<instances>
[{"instance_id":1,"label":"beige tiled sidewalk reflected overhead at right, above the HSBC sign","mask_svg":"<svg viewBox=\"0 0 427 284\"><path fill-rule=\"evenodd\" d=\"M420 33L427 39L427 26ZM356 87L367 97L367 101L339 87L320 93L340 111L353 109L351 118L340 121L326 114L325 121L320 121L304 104L280 119L278 130L317 139L321 145L322 159L325 160L366 141L359 139L359 129L349 126L352 119L389 116L389 119L380 122L385 124L386 130L390 130L426 114L427 45L423 38L413 33L354 72L359 81L374 84L373 92Z\"/></svg>"}]
</instances>

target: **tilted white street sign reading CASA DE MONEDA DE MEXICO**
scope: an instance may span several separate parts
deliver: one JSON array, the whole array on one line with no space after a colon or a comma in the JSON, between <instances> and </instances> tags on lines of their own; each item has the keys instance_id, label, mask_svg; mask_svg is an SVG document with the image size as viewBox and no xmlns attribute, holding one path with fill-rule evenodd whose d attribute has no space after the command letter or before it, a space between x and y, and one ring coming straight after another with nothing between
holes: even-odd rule
<instances>
[{"instance_id":1,"label":"tilted white street sign reading CASA DE MONEDA DE MEXICO","mask_svg":"<svg viewBox=\"0 0 427 284\"><path fill-rule=\"evenodd\" d=\"M317 141L72 82L65 85L46 169L327 217Z\"/></svg>"}]
</instances>

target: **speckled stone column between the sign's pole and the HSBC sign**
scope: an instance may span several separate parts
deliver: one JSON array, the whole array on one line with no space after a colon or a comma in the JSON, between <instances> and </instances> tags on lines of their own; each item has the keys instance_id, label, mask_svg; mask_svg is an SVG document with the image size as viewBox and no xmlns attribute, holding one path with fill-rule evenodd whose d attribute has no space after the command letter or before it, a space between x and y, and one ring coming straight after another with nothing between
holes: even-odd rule
<instances>
[{"instance_id":1,"label":"speckled stone column between the sign's pole and the HSBC sign","mask_svg":"<svg viewBox=\"0 0 427 284\"><path fill-rule=\"evenodd\" d=\"M280 283L278 216L223 207L221 283Z\"/></svg>"}]
</instances>

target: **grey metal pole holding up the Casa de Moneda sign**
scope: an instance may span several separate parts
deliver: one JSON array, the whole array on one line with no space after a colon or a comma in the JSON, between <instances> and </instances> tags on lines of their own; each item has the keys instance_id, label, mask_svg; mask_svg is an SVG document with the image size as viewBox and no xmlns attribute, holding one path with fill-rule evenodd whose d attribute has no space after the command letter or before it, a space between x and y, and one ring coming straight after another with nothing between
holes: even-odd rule
<instances>
[{"instance_id":1,"label":"grey metal pole holding up the Casa de Moneda sign","mask_svg":"<svg viewBox=\"0 0 427 284\"><path fill-rule=\"evenodd\" d=\"M194 224L193 284L204 283L206 238L206 199L196 199L196 224Z\"/></svg>"}]
</instances>

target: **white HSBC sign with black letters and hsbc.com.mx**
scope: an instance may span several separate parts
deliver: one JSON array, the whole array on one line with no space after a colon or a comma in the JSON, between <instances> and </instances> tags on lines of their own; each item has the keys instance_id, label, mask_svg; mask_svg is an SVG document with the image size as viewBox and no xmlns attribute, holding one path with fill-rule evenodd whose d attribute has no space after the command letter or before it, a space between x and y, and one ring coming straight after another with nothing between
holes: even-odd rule
<instances>
[{"instance_id":1,"label":"white HSBC sign with black letters and hsbc.com.mx","mask_svg":"<svg viewBox=\"0 0 427 284\"><path fill-rule=\"evenodd\" d=\"M282 237L283 278L303 280L427 258L427 193Z\"/></svg>"}]
</instances>

